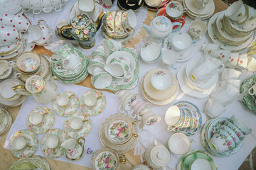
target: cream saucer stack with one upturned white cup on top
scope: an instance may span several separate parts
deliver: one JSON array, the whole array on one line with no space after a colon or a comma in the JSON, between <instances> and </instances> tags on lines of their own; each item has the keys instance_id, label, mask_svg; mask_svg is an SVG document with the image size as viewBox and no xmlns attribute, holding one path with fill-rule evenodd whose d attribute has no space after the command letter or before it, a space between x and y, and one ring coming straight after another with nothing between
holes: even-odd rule
<instances>
[{"instance_id":1,"label":"cream saucer stack with one upturned white cup on top","mask_svg":"<svg viewBox=\"0 0 256 170\"><path fill-rule=\"evenodd\" d=\"M178 95L178 80L166 69L152 69L147 72L139 86L142 97L154 105L164 106Z\"/></svg>"}]
</instances>

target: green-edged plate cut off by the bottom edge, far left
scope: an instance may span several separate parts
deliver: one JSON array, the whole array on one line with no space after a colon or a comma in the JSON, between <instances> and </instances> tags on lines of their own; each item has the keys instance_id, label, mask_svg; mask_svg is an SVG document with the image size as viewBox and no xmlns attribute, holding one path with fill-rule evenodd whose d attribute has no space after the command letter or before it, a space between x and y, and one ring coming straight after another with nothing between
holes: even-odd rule
<instances>
[{"instance_id":1,"label":"green-edged plate cut off by the bottom edge, far left","mask_svg":"<svg viewBox=\"0 0 256 170\"><path fill-rule=\"evenodd\" d=\"M31 158L21 158L18 161L14 162L9 170L15 169L42 169L42 170L50 170L50 166L45 159L41 159L40 157L31 157Z\"/></svg>"}]
</instances>

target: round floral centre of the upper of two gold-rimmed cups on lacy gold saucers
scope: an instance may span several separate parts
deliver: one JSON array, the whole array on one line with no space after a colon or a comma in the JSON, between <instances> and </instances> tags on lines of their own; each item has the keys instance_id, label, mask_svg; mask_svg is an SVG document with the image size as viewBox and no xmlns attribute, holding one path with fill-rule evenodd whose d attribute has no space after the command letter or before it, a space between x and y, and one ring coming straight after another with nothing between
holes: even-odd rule
<instances>
[{"instance_id":1,"label":"round floral centre of the upper of two gold-rimmed cups on lacy gold saucers","mask_svg":"<svg viewBox=\"0 0 256 170\"><path fill-rule=\"evenodd\" d=\"M128 140L131 135L131 128L127 122L123 120L117 120L110 125L108 133L110 139L114 142L124 142Z\"/></svg>"}]
</instances>

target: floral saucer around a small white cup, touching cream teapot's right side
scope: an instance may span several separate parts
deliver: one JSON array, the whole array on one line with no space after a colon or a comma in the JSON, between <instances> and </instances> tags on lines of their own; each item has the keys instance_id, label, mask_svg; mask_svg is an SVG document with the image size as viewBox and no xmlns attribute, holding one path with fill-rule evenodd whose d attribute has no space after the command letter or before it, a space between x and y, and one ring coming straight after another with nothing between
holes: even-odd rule
<instances>
[{"instance_id":1,"label":"floral saucer around a small white cup, touching cream teapot's right side","mask_svg":"<svg viewBox=\"0 0 256 170\"><path fill-rule=\"evenodd\" d=\"M58 103L57 103L57 98L61 94L65 94L68 97L70 97L71 95L74 95L74 96L69 98L68 104L66 106L59 106ZM60 115L60 116L73 115L73 113L75 113L75 111L79 107L79 99L78 99L78 96L76 96L73 92L71 92L71 91L63 91L60 94L58 94L57 96L55 96L55 98L52 101L52 106L53 106L53 111L57 115Z\"/></svg>"}]
</instances>

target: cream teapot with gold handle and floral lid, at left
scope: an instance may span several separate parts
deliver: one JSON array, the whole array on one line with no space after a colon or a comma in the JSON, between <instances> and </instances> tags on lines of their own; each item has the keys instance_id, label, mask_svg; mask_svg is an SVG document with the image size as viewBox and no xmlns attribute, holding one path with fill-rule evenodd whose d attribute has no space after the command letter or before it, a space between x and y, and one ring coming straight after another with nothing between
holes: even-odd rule
<instances>
[{"instance_id":1,"label":"cream teapot with gold handle and floral lid, at left","mask_svg":"<svg viewBox=\"0 0 256 170\"><path fill-rule=\"evenodd\" d=\"M57 96L58 84L51 77L46 81L43 77L34 75L26 80L25 86L18 85L12 88L16 94L33 96L38 103L46 104Z\"/></svg>"}]
</instances>

